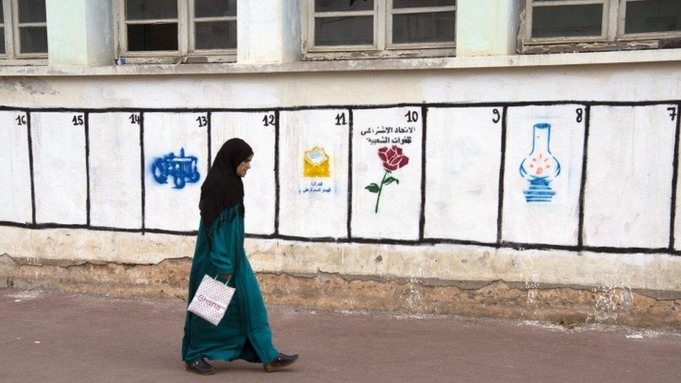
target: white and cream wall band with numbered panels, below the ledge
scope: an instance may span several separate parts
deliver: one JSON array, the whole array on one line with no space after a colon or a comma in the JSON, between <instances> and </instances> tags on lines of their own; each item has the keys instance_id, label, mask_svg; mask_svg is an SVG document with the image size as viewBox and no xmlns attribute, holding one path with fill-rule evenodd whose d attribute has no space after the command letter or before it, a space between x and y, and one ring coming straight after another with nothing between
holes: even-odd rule
<instances>
[{"instance_id":1,"label":"white and cream wall band with numbered panels, below the ledge","mask_svg":"<svg viewBox=\"0 0 681 383\"><path fill-rule=\"evenodd\" d=\"M237 136L255 151L261 273L673 295L680 77L677 63L4 77L0 255L191 257L200 185Z\"/></svg>"}]
</instances>

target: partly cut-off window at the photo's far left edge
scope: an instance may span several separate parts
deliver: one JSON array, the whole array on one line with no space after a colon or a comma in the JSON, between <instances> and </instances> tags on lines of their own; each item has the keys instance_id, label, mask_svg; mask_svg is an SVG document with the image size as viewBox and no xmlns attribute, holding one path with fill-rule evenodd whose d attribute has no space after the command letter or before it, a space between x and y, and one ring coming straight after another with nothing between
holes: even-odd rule
<instances>
[{"instance_id":1,"label":"partly cut-off window at the photo's far left edge","mask_svg":"<svg viewBox=\"0 0 681 383\"><path fill-rule=\"evenodd\" d=\"M0 0L0 59L45 58L45 0Z\"/></svg>"}]
</instances>

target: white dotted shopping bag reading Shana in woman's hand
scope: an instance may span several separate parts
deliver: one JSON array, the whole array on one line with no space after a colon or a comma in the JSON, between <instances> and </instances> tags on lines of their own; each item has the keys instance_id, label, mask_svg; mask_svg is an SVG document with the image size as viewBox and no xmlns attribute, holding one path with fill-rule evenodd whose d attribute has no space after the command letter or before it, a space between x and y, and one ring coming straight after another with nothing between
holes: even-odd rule
<instances>
[{"instance_id":1,"label":"white dotted shopping bag reading Shana in woman's hand","mask_svg":"<svg viewBox=\"0 0 681 383\"><path fill-rule=\"evenodd\" d=\"M230 306L235 291L237 290L227 286L227 283L223 284L205 275L196 290L196 294L194 294L194 299L189 303L187 311L191 311L217 326L225 316L225 311L227 311L227 306Z\"/></svg>"}]
</instances>

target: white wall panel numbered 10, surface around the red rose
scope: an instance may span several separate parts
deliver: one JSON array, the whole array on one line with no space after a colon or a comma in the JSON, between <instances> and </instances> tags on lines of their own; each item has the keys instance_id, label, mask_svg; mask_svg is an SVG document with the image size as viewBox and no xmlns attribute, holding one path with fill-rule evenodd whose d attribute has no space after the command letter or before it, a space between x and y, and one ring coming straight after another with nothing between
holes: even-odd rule
<instances>
[{"instance_id":1,"label":"white wall panel numbered 10, surface around the red rose","mask_svg":"<svg viewBox=\"0 0 681 383\"><path fill-rule=\"evenodd\" d=\"M407 112L413 113L412 122L407 122ZM352 236L369 239L419 239L423 135L421 108L354 110L353 120ZM391 128L392 132L382 133L387 128ZM398 128L403 128L406 133L397 133ZM389 142L385 142L386 139ZM408 163L388 173L378 151L395 147L402 150ZM372 183L380 186L386 175L398 182L384 184L380 201L377 201L378 193L371 193L366 188Z\"/></svg>"}]
</instances>

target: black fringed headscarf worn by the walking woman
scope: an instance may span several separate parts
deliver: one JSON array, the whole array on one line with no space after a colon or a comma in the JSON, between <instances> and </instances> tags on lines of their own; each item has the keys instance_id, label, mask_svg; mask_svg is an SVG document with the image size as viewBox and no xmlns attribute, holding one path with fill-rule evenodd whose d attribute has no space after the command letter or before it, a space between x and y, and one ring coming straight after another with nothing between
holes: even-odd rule
<instances>
[{"instance_id":1,"label":"black fringed headscarf worn by the walking woman","mask_svg":"<svg viewBox=\"0 0 681 383\"><path fill-rule=\"evenodd\" d=\"M239 213L244 216L244 183L237 174L237 167L251 154L253 149L239 138L227 140L218 151L201 186L199 209L206 228L223 210L236 204L239 204Z\"/></svg>"}]
</instances>

